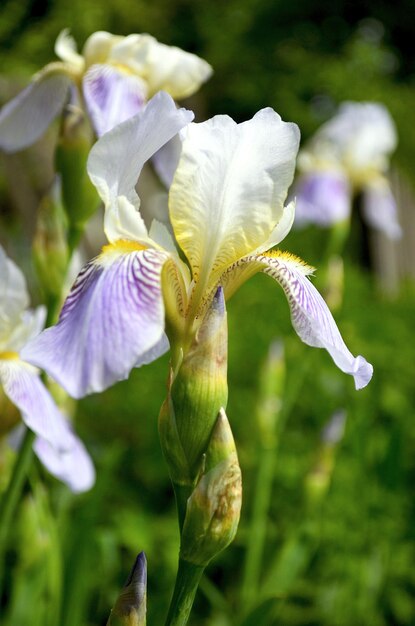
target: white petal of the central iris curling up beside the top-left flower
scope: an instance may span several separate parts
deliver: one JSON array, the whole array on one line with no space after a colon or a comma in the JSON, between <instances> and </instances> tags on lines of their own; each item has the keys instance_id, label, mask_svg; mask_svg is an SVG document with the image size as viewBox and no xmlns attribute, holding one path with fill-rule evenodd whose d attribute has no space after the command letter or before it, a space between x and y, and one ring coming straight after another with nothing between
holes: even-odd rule
<instances>
[{"instance_id":1,"label":"white petal of the central iris curling up beside the top-left flower","mask_svg":"<svg viewBox=\"0 0 415 626\"><path fill-rule=\"evenodd\" d=\"M94 145L87 167L105 204L105 232L110 241L148 239L138 213L138 176L144 163L192 119L191 111L176 109L170 96L160 92L142 113L109 131Z\"/></svg>"}]
</instances>

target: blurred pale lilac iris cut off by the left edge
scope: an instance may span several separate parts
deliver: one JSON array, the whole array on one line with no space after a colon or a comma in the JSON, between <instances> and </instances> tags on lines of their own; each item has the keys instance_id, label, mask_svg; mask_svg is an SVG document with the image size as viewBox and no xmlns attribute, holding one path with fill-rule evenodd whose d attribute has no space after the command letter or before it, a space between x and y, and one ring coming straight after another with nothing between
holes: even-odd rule
<instances>
[{"instance_id":1,"label":"blurred pale lilac iris cut off by the left edge","mask_svg":"<svg viewBox=\"0 0 415 626\"><path fill-rule=\"evenodd\" d=\"M95 481L91 459L37 368L21 357L22 348L45 322L45 308L28 310L28 304L24 276L0 247L0 384L36 433L34 451L45 467L73 491L85 491Z\"/></svg>"}]
</instances>

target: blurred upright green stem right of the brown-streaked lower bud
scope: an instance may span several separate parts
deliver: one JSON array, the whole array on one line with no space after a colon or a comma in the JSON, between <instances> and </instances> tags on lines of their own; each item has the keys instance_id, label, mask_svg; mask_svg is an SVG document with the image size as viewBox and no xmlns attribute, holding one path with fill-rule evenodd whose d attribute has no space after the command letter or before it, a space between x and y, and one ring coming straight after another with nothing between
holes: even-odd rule
<instances>
[{"instance_id":1,"label":"blurred upright green stem right of the brown-streaked lower bud","mask_svg":"<svg viewBox=\"0 0 415 626\"><path fill-rule=\"evenodd\" d=\"M262 448L259 458L261 461L258 467L255 499L245 561L245 573L242 584L241 597L245 610L249 610L251 607L257 597L259 587L262 555L267 531L268 510L274 478L276 449L274 447L268 449Z\"/></svg>"}]
</instances>

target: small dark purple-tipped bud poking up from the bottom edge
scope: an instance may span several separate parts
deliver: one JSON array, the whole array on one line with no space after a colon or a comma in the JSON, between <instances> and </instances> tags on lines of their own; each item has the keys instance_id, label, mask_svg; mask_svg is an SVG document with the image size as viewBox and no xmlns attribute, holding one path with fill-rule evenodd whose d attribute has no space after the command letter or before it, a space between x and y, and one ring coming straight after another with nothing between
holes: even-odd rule
<instances>
[{"instance_id":1,"label":"small dark purple-tipped bud poking up from the bottom edge","mask_svg":"<svg viewBox=\"0 0 415 626\"><path fill-rule=\"evenodd\" d=\"M145 626L147 561L140 552L111 611L107 626Z\"/></svg>"}]
</instances>

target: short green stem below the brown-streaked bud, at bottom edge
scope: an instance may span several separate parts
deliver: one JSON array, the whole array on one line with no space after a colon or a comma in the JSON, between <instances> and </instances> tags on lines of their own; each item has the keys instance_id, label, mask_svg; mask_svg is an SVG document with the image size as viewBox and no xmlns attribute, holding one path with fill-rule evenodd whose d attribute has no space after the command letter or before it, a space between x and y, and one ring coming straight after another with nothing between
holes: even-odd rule
<instances>
[{"instance_id":1,"label":"short green stem below the brown-streaked bud, at bottom edge","mask_svg":"<svg viewBox=\"0 0 415 626\"><path fill-rule=\"evenodd\" d=\"M173 598L165 626L187 624L204 567L179 559Z\"/></svg>"}]
</instances>

